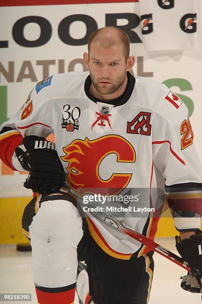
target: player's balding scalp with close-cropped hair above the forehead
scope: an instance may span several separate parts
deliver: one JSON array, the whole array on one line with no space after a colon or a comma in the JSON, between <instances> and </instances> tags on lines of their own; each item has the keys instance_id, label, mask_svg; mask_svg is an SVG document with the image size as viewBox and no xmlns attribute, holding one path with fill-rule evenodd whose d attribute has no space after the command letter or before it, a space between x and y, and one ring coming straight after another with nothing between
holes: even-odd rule
<instances>
[{"instance_id":1,"label":"player's balding scalp with close-cropped hair above the forehead","mask_svg":"<svg viewBox=\"0 0 202 304\"><path fill-rule=\"evenodd\" d=\"M98 47L101 47L103 49L108 49L113 46L122 44L125 59L129 57L130 54L129 37L125 32L123 32L117 27L106 26L93 32L88 42L89 55L91 52L92 43L95 43Z\"/></svg>"}]
</instances>

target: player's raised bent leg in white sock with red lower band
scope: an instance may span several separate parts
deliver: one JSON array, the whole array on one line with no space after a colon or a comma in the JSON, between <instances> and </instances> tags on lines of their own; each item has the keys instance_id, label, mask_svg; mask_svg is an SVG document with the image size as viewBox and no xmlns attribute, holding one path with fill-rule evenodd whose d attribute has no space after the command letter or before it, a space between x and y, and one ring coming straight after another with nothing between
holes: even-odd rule
<instances>
[{"instance_id":1,"label":"player's raised bent leg in white sock with red lower band","mask_svg":"<svg viewBox=\"0 0 202 304\"><path fill-rule=\"evenodd\" d=\"M40 207L29 226L32 269L38 303L74 302L77 276L77 247L83 236L82 219L76 207L63 194L51 194L28 209Z\"/></svg>"}]
</instances>

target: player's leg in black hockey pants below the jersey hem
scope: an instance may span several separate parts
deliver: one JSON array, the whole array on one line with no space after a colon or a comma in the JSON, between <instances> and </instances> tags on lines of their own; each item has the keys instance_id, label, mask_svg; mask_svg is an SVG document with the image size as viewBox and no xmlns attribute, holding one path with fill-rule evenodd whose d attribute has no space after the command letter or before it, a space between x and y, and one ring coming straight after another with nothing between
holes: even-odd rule
<instances>
[{"instance_id":1,"label":"player's leg in black hockey pants below the jersey hem","mask_svg":"<svg viewBox=\"0 0 202 304\"><path fill-rule=\"evenodd\" d=\"M107 255L97 244L91 251L87 271L90 294L95 303L148 303L154 270L153 252L139 258L120 260Z\"/></svg>"}]
</instances>

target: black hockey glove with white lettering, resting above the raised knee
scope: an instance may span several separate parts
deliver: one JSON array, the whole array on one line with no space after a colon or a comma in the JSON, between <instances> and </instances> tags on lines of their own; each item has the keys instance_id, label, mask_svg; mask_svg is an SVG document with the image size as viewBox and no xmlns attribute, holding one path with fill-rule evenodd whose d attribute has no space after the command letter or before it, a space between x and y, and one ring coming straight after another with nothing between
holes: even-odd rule
<instances>
[{"instance_id":1,"label":"black hockey glove with white lettering, resting above the raised knee","mask_svg":"<svg viewBox=\"0 0 202 304\"><path fill-rule=\"evenodd\" d=\"M34 192L58 191L65 182L65 172L55 144L43 137L27 136L23 140L26 151L17 147L15 154L22 167L29 171L24 187Z\"/></svg>"}]
</instances>

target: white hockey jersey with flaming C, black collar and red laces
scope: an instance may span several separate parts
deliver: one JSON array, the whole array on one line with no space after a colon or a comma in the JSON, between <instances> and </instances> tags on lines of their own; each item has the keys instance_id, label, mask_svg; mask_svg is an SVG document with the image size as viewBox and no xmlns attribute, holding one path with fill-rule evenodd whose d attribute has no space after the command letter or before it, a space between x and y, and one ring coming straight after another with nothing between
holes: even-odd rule
<instances>
[{"instance_id":1,"label":"white hockey jersey with flaming C, black collar and red laces","mask_svg":"<svg viewBox=\"0 0 202 304\"><path fill-rule=\"evenodd\" d=\"M1 137L54 133L67 182L80 195L92 188L106 188L110 194L114 188L156 189L157 171L167 186L202 183L187 108L168 87L128 74L126 90L113 105L93 97L90 83L88 72L40 81L22 108L1 125L13 129ZM145 193L139 204L149 208L155 198L151 191ZM193 195L196 199L196 191ZM154 238L158 219L152 214L130 214L122 221ZM129 259L135 252L140 256L148 251L97 218L89 216L88 223L96 242L111 256Z\"/></svg>"}]
</instances>

